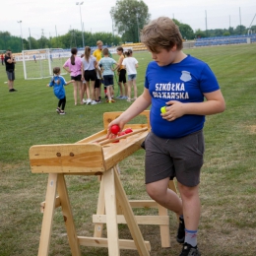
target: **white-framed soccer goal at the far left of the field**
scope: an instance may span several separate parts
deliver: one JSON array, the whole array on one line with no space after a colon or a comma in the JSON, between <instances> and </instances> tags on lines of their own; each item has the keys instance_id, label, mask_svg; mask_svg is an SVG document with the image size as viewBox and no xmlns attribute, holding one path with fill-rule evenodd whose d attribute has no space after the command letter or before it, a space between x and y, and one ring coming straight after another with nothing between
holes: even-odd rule
<instances>
[{"instance_id":1,"label":"white-framed soccer goal at the far left of the field","mask_svg":"<svg viewBox=\"0 0 256 256\"><path fill-rule=\"evenodd\" d=\"M61 48L23 50L24 78L29 80L51 77L54 67L60 67L63 71L62 66L69 56L70 52ZM61 73L64 74L66 73Z\"/></svg>"}]
</instances>

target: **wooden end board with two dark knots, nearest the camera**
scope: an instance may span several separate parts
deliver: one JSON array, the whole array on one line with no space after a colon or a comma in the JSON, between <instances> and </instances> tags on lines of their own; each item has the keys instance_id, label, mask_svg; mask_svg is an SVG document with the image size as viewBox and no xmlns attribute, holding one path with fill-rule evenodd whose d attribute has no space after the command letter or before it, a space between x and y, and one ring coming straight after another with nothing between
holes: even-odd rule
<instances>
[{"instance_id":1,"label":"wooden end board with two dark knots, nearest the camera","mask_svg":"<svg viewBox=\"0 0 256 256\"><path fill-rule=\"evenodd\" d=\"M102 148L96 144L38 145L30 149L32 172L104 171Z\"/></svg>"}]
</instances>

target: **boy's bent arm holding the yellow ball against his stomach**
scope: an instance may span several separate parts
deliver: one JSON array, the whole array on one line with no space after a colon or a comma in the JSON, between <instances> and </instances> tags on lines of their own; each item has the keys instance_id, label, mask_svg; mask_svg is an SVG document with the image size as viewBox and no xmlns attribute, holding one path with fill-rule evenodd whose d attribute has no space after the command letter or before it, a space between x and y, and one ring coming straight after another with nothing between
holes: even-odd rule
<instances>
[{"instance_id":1,"label":"boy's bent arm holding the yellow ball against his stomach","mask_svg":"<svg viewBox=\"0 0 256 256\"><path fill-rule=\"evenodd\" d=\"M204 94L207 100L203 102L182 103L176 100L166 102L166 113L161 114L163 119L173 121L185 114L211 115L221 113L225 109L224 96L221 90Z\"/></svg>"}]
</instances>

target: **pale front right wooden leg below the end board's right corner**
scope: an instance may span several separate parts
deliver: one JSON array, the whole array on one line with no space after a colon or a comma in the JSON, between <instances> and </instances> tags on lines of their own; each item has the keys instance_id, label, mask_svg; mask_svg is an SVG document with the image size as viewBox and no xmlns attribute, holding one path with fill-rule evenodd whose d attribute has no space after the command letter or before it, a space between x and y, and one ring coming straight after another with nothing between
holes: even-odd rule
<instances>
[{"instance_id":1,"label":"pale front right wooden leg below the end board's right corner","mask_svg":"<svg viewBox=\"0 0 256 256\"><path fill-rule=\"evenodd\" d=\"M119 256L118 226L116 220L116 193L114 187L114 170L108 169L103 174L104 199L106 214L106 229L108 241L108 255Z\"/></svg>"}]
</instances>

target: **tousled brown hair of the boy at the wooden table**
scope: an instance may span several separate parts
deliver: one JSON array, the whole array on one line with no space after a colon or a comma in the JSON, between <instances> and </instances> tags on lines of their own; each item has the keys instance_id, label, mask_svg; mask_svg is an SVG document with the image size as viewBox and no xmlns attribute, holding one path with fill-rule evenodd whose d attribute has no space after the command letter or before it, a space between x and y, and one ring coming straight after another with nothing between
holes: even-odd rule
<instances>
[{"instance_id":1,"label":"tousled brown hair of the boy at the wooden table","mask_svg":"<svg viewBox=\"0 0 256 256\"><path fill-rule=\"evenodd\" d=\"M159 52L160 48L170 50L174 45L177 50L183 47L179 29L168 17L160 17L146 25L141 32L141 41L152 52Z\"/></svg>"}]
</instances>

